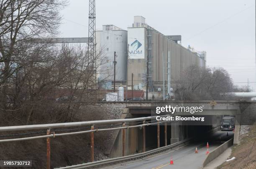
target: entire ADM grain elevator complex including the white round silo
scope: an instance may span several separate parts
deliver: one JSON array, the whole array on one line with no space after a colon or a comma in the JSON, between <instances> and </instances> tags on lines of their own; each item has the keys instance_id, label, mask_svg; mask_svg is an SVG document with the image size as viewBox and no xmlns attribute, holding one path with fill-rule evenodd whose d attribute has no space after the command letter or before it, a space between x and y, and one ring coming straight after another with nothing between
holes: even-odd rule
<instances>
[{"instance_id":1,"label":"entire ADM grain elevator complex including the white round silo","mask_svg":"<svg viewBox=\"0 0 256 169\"><path fill-rule=\"evenodd\" d=\"M163 35L147 25L145 20L142 16L135 16L132 27L127 31L114 25L103 25L103 30L96 32L97 50L105 48L102 57L109 60L101 69L108 69L110 77L106 79L112 81L113 87L116 52L117 81L126 83L127 80L128 89L133 86L133 89L145 91L148 86L150 92L163 93L164 90L165 94L171 94L182 70L191 65L205 67L206 52L183 47L180 35ZM100 75L99 79L104 79L108 73Z\"/></svg>"}]
</instances>

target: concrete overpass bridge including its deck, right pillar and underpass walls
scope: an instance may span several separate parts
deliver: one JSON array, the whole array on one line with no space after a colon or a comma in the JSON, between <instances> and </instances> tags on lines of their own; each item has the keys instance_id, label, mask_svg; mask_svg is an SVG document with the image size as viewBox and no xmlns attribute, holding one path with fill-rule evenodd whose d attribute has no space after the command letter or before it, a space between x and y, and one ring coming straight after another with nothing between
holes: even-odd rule
<instances>
[{"instance_id":1,"label":"concrete overpass bridge including its deck, right pillar and underpass walls","mask_svg":"<svg viewBox=\"0 0 256 169\"><path fill-rule=\"evenodd\" d=\"M158 148L160 145L164 146L166 142L168 144L174 144L176 142L182 141L193 135L199 134L199 132L205 132L207 130L212 129L212 127L220 126L221 116L228 115L234 116L236 119L236 127L234 133L233 144L238 144L238 137L240 131L240 125L247 125L251 121L250 118L250 106L252 102L238 102L238 101L216 101L216 105L212 106L210 104L211 101L172 101L172 102L132 102L127 104L125 107L123 114L121 116L122 119L127 118L136 118L136 117L148 117L148 116L158 116L156 114L156 107L161 106L178 106L178 107L203 107L203 112L200 114L194 113L191 114L189 112L175 112L172 114L173 116L211 116L212 121L207 124L182 124L181 122L171 122L168 123L167 126L161 126L158 128L148 127L147 128L147 140L149 138L160 137L159 141L154 140L152 144L155 144L154 148ZM124 104L121 102L115 102L112 104ZM242 111L241 111L242 109ZM249 110L248 110L249 109ZM167 113L168 114L168 113ZM255 113L254 113L255 114ZM161 113L161 115L166 115L166 113ZM255 116L255 115L254 115ZM194 126L197 125L197 126ZM168 131L168 132L164 132ZM198 132L195 132L198 131ZM149 134L148 134L149 133ZM156 134L160 133L160 134ZM165 134L167 136L165 136ZM126 141L126 146L128 148L127 153L133 154L138 152L138 149L141 149L141 130L140 129L131 129L127 131L127 136L130 136ZM167 139L167 140L165 140ZM121 146L122 136L120 131L115 131L113 138L113 146L108 149L107 153L110 157L118 157L121 155L120 149L118 147ZM156 147L157 145L157 147ZM147 147L150 147L148 145Z\"/></svg>"}]
</instances>

